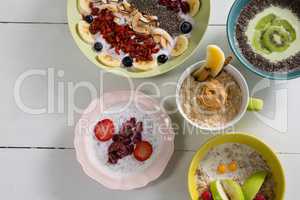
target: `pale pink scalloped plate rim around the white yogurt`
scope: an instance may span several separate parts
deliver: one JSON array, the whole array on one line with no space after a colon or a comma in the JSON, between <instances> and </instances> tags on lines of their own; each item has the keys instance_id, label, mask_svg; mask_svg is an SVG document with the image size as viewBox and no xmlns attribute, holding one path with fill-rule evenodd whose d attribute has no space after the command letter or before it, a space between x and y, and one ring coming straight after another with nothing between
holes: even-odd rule
<instances>
[{"instance_id":1,"label":"pale pink scalloped plate rim around the white yogurt","mask_svg":"<svg viewBox=\"0 0 300 200\"><path fill-rule=\"evenodd\" d=\"M101 170L101 167L99 169L99 166L95 166L95 163L89 159L87 141L91 132L86 127L92 127L99 115L108 108L124 103L143 105L143 108L147 109L145 112L151 112L149 115L151 115L151 119L155 119L155 126L160 127L155 130L159 133L160 142L157 147L157 156L142 172L132 173L128 176L114 176L112 173ZM174 152L174 137L171 120L157 101L136 91L116 91L105 93L100 99L93 100L84 111L76 125L74 145L77 160L89 177L110 189L131 190L146 186L163 173Z\"/></svg>"}]
</instances>

